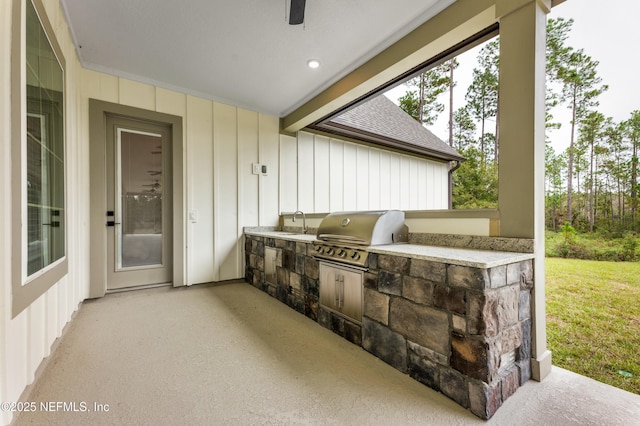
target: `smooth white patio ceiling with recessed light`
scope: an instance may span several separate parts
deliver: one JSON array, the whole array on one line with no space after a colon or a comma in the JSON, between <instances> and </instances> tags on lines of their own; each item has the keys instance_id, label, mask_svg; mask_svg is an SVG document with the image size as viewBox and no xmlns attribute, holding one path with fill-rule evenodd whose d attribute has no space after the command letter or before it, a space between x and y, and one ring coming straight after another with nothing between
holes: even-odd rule
<instances>
[{"instance_id":1,"label":"smooth white patio ceiling with recessed light","mask_svg":"<svg viewBox=\"0 0 640 426\"><path fill-rule=\"evenodd\" d=\"M61 1L86 68L283 117L455 0Z\"/></svg>"}]
</instances>

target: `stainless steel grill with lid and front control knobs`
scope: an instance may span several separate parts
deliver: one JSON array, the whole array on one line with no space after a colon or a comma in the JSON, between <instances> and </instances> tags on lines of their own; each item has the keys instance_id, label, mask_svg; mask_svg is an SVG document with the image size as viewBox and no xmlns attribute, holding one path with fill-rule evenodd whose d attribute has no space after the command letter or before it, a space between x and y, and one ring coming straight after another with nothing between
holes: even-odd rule
<instances>
[{"instance_id":1,"label":"stainless steel grill with lid and front control knobs","mask_svg":"<svg viewBox=\"0 0 640 426\"><path fill-rule=\"evenodd\" d=\"M314 256L366 269L368 246L407 242L408 236L400 210L331 213L318 227Z\"/></svg>"}]
</instances>

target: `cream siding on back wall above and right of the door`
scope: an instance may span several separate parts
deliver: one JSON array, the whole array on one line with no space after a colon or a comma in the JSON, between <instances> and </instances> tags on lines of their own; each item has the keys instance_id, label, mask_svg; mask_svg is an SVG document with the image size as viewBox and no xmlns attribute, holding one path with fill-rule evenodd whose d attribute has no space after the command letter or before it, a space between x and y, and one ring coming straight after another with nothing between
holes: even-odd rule
<instances>
[{"instance_id":1,"label":"cream siding on back wall above and right of the door","mask_svg":"<svg viewBox=\"0 0 640 426\"><path fill-rule=\"evenodd\" d=\"M94 98L183 118L185 282L242 277L243 227L278 223L277 117L94 71L84 70L83 76L87 102ZM252 174L253 163L267 165L267 175Z\"/></svg>"}]
</instances>

